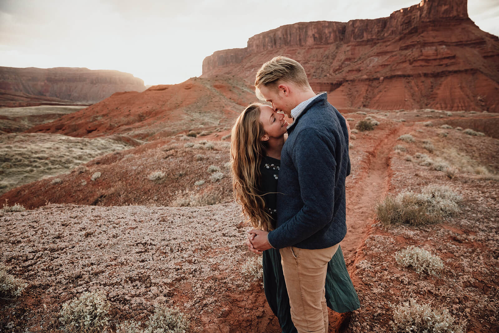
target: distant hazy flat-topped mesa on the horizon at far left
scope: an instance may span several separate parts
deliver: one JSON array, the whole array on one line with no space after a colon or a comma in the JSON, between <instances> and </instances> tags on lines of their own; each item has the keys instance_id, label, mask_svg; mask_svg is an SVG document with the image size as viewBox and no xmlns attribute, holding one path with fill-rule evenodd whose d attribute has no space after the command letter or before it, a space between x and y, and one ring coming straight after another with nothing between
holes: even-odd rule
<instances>
[{"instance_id":1,"label":"distant hazy flat-topped mesa on the horizon at far left","mask_svg":"<svg viewBox=\"0 0 499 333\"><path fill-rule=\"evenodd\" d=\"M0 67L0 89L92 104L117 91L143 91L145 86L140 78L117 70Z\"/></svg>"}]
</instances>

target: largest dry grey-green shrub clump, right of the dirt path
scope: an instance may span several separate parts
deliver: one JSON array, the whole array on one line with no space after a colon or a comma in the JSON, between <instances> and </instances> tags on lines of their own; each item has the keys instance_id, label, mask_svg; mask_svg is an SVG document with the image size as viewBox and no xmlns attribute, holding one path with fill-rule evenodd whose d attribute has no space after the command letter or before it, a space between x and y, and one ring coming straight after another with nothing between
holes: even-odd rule
<instances>
[{"instance_id":1,"label":"largest dry grey-green shrub clump, right of the dirt path","mask_svg":"<svg viewBox=\"0 0 499 333\"><path fill-rule=\"evenodd\" d=\"M407 191L387 196L377 205L376 212L384 225L425 225L459 212L461 200L462 197L447 186L428 185L421 194Z\"/></svg>"}]
</instances>

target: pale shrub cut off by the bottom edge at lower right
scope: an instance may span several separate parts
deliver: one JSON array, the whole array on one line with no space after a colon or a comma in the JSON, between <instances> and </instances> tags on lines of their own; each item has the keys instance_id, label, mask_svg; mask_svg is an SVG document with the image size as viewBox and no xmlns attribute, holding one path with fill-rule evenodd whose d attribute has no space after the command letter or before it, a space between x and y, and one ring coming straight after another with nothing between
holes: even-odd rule
<instances>
[{"instance_id":1,"label":"pale shrub cut off by the bottom edge at lower right","mask_svg":"<svg viewBox=\"0 0 499 333\"><path fill-rule=\"evenodd\" d=\"M447 309L434 310L429 304L419 304L411 298L402 304L393 305L393 322L390 322L396 333L403 332L435 332L465 333L466 322L455 324L456 319Z\"/></svg>"}]
</instances>

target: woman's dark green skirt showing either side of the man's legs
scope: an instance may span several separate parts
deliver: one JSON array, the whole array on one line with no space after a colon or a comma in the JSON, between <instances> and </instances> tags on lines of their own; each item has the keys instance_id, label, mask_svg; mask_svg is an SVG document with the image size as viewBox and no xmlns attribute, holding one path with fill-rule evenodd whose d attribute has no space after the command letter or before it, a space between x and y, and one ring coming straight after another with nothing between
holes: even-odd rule
<instances>
[{"instance_id":1,"label":"woman's dark green skirt showing either side of the man's legs","mask_svg":"<svg viewBox=\"0 0 499 333\"><path fill-rule=\"evenodd\" d=\"M284 333L297 332L291 321L289 297L282 273L279 250L263 251L263 288L270 309L279 320ZM326 303L336 312L350 312L360 307L359 298L353 288L352 280L346 270L345 259L341 247L327 264Z\"/></svg>"}]
</instances>

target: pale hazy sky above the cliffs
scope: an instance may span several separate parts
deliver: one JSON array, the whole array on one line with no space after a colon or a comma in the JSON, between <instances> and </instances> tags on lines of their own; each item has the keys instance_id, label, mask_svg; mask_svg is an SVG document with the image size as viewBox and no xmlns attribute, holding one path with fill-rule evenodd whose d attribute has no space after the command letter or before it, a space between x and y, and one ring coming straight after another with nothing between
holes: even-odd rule
<instances>
[{"instance_id":1,"label":"pale hazy sky above the cliffs","mask_svg":"<svg viewBox=\"0 0 499 333\"><path fill-rule=\"evenodd\" d=\"M129 72L145 84L199 76L214 51L283 24L389 16L417 0L0 0L0 66ZM468 13L499 35L499 0Z\"/></svg>"}]
</instances>

